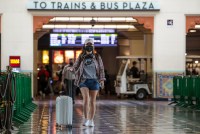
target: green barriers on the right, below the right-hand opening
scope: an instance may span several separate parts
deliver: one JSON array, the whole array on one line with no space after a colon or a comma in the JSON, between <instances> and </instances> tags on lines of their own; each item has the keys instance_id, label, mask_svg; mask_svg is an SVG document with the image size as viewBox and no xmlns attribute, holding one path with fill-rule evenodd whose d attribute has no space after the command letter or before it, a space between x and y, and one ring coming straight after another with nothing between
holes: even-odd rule
<instances>
[{"instance_id":1,"label":"green barriers on the right, below the right-hand opening","mask_svg":"<svg viewBox=\"0 0 200 134\"><path fill-rule=\"evenodd\" d=\"M200 76L175 76L173 90L176 106L200 108Z\"/></svg>"}]
</instances>

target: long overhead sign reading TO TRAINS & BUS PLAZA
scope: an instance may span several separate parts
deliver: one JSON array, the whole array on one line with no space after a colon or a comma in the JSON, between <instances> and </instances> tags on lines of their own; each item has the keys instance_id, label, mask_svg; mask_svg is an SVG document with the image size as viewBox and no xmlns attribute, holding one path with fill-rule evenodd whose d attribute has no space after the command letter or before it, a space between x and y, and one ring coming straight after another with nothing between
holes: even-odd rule
<instances>
[{"instance_id":1,"label":"long overhead sign reading TO TRAINS & BUS PLAZA","mask_svg":"<svg viewBox=\"0 0 200 134\"><path fill-rule=\"evenodd\" d=\"M69 2L67 0L29 0L28 10L112 10L112 11L158 11L158 2L124 1L124 2Z\"/></svg>"}]
</instances>

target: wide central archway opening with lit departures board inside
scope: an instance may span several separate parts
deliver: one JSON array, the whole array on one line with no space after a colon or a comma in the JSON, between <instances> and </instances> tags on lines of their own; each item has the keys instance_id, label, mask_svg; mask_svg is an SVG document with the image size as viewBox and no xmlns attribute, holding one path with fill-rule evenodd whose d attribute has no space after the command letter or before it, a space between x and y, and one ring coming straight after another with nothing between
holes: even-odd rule
<instances>
[{"instance_id":1,"label":"wide central archway opening with lit departures board inside","mask_svg":"<svg viewBox=\"0 0 200 134\"><path fill-rule=\"evenodd\" d=\"M109 94L120 62L117 56L152 56L153 17L55 17L34 16L34 96L38 94L37 73L48 65L53 81L69 59L81 53L83 40L92 37L110 78ZM133 61L131 61L133 62ZM148 61L152 64L152 59ZM131 64L130 64L131 68ZM140 64L152 77L152 66ZM105 91L103 91L105 93Z\"/></svg>"}]
</instances>

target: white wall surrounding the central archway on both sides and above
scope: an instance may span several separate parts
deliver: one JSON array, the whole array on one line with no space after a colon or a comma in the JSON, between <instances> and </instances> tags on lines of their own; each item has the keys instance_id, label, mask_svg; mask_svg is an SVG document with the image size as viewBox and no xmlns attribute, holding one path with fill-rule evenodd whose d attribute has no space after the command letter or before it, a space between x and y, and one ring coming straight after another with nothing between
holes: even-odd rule
<instances>
[{"instance_id":1,"label":"white wall surrounding the central archway on both sides and above","mask_svg":"<svg viewBox=\"0 0 200 134\"><path fill-rule=\"evenodd\" d=\"M26 9L27 1L28 0L0 0L0 14L2 21L2 70L5 70L6 65L9 64L10 55L19 55L21 56L22 71L33 71L33 15L104 17L155 16L153 35L154 72L184 72L186 48L185 15L200 14L200 0L156 0L160 3L160 11L155 12L30 12ZM167 27L167 19L173 19L174 21L174 25L170 28Z\"/></svg>"}]
</instances>

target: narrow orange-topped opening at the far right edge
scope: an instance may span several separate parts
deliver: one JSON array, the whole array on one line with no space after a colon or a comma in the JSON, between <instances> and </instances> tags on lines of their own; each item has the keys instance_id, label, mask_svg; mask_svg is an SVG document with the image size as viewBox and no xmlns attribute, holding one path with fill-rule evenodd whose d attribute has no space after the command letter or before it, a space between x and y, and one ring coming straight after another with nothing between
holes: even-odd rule
<instances>
[{"instance_id":1,"label":"narrow orange-topped opening at the far right edge","mask_svg":"<svg viewBox=\"0 0 200 134\"><path fill-rule=\"evenodd\" d=\"M186 17L186 75L200 75L199 16Z\"/></svg>"}]
</instances>

